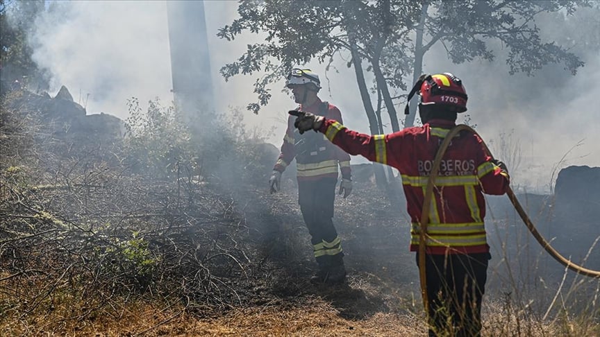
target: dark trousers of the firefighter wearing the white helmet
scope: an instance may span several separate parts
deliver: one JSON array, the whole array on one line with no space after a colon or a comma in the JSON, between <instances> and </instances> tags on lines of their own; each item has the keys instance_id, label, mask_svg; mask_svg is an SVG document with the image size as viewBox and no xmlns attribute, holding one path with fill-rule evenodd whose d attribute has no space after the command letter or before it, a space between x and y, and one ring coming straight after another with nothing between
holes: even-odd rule
<instances>
[{"instance_id":1,"label":"dark trousers of the firefighter wearing the white helmet","mask_svg":"<svg viewBox=\"0 0 600 337\"><path fill-rule=\"evenodd\" d=\"M333 225L333 205L337 182L337 178L298 182L298 203L310 234L310 242L313 243L313 247L324 243L328 248L326 254L317 252L317 248L315 248L315 259L320 268L331 268L344 263L342 259L344 253L339 242L338 231Z\"/></svg>"}]
</instances>

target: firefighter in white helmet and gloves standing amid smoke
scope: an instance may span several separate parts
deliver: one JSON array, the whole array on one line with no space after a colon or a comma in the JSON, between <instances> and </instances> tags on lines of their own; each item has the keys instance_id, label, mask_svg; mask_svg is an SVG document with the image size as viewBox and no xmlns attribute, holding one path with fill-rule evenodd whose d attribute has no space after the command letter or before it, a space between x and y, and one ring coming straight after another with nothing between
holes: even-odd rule
<instances>
[{"instance_id":1,"label":"firefighter in white helmet and gloves standing amid smoke","mask_svg":"<svg viewBox=\"0 0 600 337\"><path fill-rule=\"evenodd\" d=\"M321 83L310 69L292 69L286 86L292 89L299 110L311 112L342 123L342 114L335 105L321 101L317 96ZM280 187L281 173L296 158L298 203L308 227L315 259L319 266L310 278L313 284L338 284L346 279L342 242L333 225L335 184L338 165L342 172L340 194L346 198L352 190L350 156L331 144L324 135L314 132L300 134L294 128L295 117L288 118L288 129L283 137L281 153L269 179L271 192Z\"/></svg>"}]
</instances>

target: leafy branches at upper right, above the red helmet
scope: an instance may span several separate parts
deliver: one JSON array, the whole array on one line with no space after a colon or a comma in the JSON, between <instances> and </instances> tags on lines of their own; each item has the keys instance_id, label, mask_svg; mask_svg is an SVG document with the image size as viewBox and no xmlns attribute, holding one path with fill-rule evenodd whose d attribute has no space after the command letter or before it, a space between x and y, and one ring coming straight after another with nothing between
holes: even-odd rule
<instances>
[{"instance_id":1,"label":"leafy branches at upper right, above the red helmet","mask_svg":"<svg viewBox=\"0 0 600 337\"><path fill-rule=\"evenodd\" d=\"M510 51L506 59L510 74L531 75L550 63L565 64L576 74L583 66L567 48L542 41L535 15L558 11L571 15L578 6L586 6L585 1L439 1L432 5L430 12L435 14L426 18L427 35L432 38L428 46L442 43L454 63L494 60L487 42L499 40Z\"/></svg>"}]
</instances>

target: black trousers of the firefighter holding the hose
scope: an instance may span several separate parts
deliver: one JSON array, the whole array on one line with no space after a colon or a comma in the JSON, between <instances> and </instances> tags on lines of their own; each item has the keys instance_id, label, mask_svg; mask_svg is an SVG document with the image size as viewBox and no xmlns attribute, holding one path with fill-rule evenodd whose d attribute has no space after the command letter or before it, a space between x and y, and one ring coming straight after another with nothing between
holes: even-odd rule
<instances>
[{"instance_id":1,"label":"black trousers of the firefighter holding the hose","mask_svg":"<svg viewBox=\"0 0 600 337\"><path fill-rule=\"evenodd\" d=\"M481 301L490 258L490 253L427 254L429 336L481 336Z\"/></svg>"}]
</instances>

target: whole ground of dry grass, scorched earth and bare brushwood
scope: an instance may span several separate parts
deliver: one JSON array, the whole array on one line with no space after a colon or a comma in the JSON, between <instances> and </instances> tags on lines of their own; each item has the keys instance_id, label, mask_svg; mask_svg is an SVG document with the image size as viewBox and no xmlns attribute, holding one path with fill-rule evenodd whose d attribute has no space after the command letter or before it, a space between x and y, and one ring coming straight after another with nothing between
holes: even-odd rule
<instances>
[{"instance_id":1,"label":"whole ground of dry grass, scorched earth and bare brushwood","mask_svg":"<svg viewBox=\"0 0 600 337\"><path fill-rule=\"evenodd\" d=\"M144 179L105 149L65 159L16 116L0 114L18 126L0 128L1 336L426 334L401 193L336 200L349 283L315 287L292 184ZM600 283L542 269L510 216L489 224L483 336L600 336Z\"/></svg>"}]
</instances>

